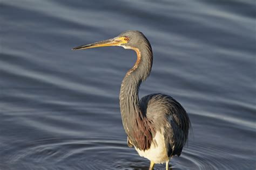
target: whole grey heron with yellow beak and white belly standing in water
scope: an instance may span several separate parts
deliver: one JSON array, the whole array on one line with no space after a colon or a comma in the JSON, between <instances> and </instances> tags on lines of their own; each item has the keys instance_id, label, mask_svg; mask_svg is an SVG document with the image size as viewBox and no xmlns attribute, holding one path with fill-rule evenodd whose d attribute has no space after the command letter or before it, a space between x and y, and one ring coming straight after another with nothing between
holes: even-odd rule
<instances>
[{"instance_id":1,"label":"whole grey heron with yellow beak and white belly standing in water","mask_svg":"<svg viewBox=\"0 0 256 170\"><path fill-rule=\"evenodd\" d=\"M137 54L134 66L125 74L120 87L119 104L127 145L150 160L150 168L181 154L187 141L190 119L179 102L157 93L139 100L139 87L150 75L153 52L149 40L140 31L125 31L119 36L82 45L76 49L121 46Z\"/></svg>"}]
</instances>

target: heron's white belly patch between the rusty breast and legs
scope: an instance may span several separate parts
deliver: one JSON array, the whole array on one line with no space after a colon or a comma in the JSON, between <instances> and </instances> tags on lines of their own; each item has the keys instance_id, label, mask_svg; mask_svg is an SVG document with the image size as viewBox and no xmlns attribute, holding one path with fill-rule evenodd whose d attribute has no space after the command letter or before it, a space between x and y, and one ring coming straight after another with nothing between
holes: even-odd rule
<instances>
[{"instance_id":1,"label":"heron's white belly patch between the rusty breast and legs","mask_svg":"<svg viewBox=\"0 0 256 170\"><path fill-rule=\"evenodd\" d=\"M166 153L164 135L159 131L157 131L156 136L153 138L149 150L142 151L136 147L135 149L140 157L147 158L156 164L164 163L170 159Z\"/></svg>"}]
</instances>

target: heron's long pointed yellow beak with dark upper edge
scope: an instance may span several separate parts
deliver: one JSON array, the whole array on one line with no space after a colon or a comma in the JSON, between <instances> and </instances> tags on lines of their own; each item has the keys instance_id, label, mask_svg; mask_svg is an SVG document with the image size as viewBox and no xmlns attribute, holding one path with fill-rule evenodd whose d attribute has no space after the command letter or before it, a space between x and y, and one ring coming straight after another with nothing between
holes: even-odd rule
<instances>
[{"instance_id":1,"label":"heron's long pointed yellow beak with dark upper edge","mask_svg":"<svg viewBox=\"0 0 256 170\"><path fill-rule=\"evenodd\" d=\"M106 46L118 46L120 44L122 44L121 40L119 40L118 38L111 38L108 40L99 41L99 42L95 42L92 44L78 46L78 47L72 48L72 50L96 48L96 47L106 47Z\"/></svg>"}]
</instances>

